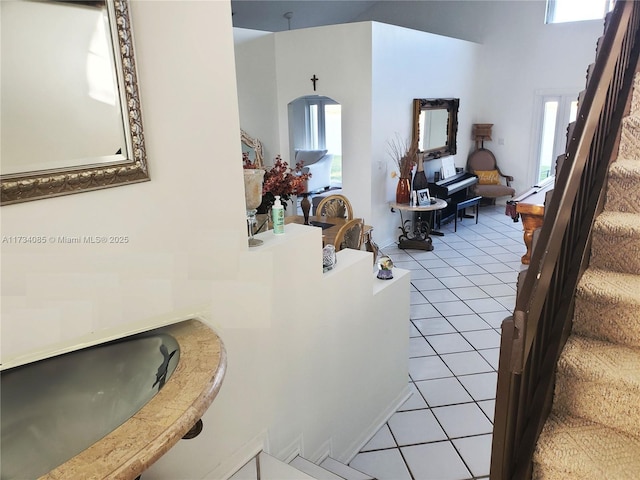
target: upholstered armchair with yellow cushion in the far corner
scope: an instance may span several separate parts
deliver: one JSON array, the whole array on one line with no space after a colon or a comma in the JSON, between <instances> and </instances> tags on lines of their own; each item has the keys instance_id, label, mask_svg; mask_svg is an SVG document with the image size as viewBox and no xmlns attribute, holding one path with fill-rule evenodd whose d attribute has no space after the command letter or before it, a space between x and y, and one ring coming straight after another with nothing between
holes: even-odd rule
<instances>
[{"instance_id":1,"label":"upholstered armchair with yellow cushion in the far corner","mask_svg":"<svg viewBox=\"0 0 640 480\"><path fill-rule=\"evenodd\" d=\"M488 198L491 203L496 198L513 197L516 191L511 187L513 177L502 173L496 162L496 157L490 150L479 148L467 159L467 171L478 177L478 183L469 189L474 195Z\"/></svg>"}]
</instances>

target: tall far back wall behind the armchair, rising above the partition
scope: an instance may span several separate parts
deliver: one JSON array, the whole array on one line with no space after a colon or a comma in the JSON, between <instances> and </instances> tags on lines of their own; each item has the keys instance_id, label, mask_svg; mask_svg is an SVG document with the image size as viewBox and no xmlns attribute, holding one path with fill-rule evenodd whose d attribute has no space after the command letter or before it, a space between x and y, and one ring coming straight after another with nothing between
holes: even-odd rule
<instances>
[{"instance_id":1,"label":"tall far back wall behind the armchair, rising above the partition","mask_svg":"<svg viewBox=\"0 0 640 480\"><path fill-rule=\"evenodd\" d=\"M477 98L472 123L494 124L493 141L485 142L485 147L515 177L516 191L535 181L536 92L573 91L577 97L603 33L602 20L545 25L545 4L545 0L382 2L360 17L482 44L476 75L467 79ZM451 62L457 63L456 58ZM460 130L460 135L470 136L470 131ZM468 153L460 150L463 158Z\"/></svg>"}]
</instances>

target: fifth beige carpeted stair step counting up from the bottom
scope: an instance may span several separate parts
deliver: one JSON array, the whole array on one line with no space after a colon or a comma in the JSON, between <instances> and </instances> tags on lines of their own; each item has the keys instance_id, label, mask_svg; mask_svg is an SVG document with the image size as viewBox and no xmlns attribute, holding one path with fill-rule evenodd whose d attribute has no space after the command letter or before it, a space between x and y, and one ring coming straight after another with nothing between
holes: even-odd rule
<instances>
[{"instance_id":1,"label":"fifth beige carpeted stair step counting up from the bottom","mask_svg":"<svg viewBox=\"0 0 640 480\"><path fill-rule=\"evenodd\" d=\"M609 167L605 210L640 213L640 161L618 159Z\"/></svg>"}]
</instances>

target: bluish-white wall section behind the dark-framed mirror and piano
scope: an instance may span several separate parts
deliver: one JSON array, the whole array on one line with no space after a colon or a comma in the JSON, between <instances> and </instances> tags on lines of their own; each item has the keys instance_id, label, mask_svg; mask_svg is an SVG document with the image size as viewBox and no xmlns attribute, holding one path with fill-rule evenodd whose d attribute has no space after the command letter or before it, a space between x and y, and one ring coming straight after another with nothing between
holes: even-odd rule
<instances>
[{"instance_id":1,"label":"bluish-white wall section behind the dark-framed mirror and piano","mask_svg":"<svg viewBox=\"0 0 640 480\"><path fill-rule=\"evenodd\" d=\"M397 241L400 217L388 202L395 199L397 179L388 142L395 132L407 140L413 130L414 98L459 98L457 151L453 159L464 167L471 144L476 109L474 78L479 45L464 40L373 23L372 195L375 238L381 245ZM453 61L452 59L455 59ZM433 176L441 160L425 162Z\"/></svg>"}]
</instances>

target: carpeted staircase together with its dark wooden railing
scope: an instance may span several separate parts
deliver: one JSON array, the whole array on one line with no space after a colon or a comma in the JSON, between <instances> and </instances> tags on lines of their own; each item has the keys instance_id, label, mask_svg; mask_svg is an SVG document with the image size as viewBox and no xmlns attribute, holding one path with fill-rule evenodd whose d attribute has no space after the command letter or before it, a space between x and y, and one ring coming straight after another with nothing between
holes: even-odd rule
<instances>
[{"instance_id":1,"label":"carpeted staircase together with its dark wooden railing","mask_svg":"<svg viewBox=\"0 0 640 480\"><path fill-rule=\"evenodd\" d=\"M502 323L491 480L640 479L639 72L616 0Z\"/></svg>"}]
</instances>

